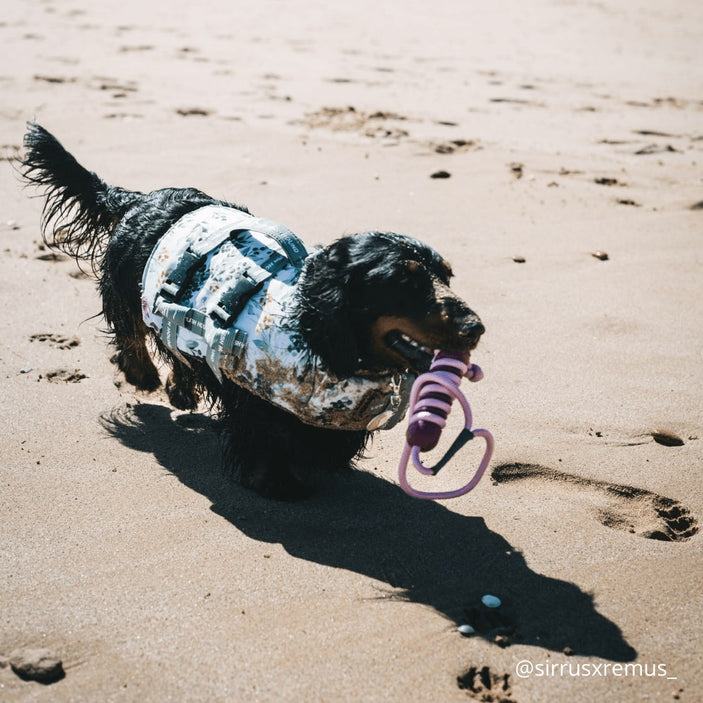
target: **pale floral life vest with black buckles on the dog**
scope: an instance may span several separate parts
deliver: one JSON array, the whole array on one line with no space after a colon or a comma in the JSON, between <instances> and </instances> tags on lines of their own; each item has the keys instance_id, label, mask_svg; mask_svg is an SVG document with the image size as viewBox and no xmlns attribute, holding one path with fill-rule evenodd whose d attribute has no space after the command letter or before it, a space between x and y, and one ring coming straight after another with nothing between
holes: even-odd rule
<instances>
[{"instance_id":1,"label":"pale floral life vest with black buckles on the dog","mask_svg":"<svg viewBox=\"0 0 703 703\"><path fill-rule=\"evenodd\" d=\"M317 427L389 429L414 375L337 378L294 319L296 283L315 256L290 230L233 207L207 205L159 240L142 279L144 322L177 358L223 377Z\"/></svg>"}]
</instances>

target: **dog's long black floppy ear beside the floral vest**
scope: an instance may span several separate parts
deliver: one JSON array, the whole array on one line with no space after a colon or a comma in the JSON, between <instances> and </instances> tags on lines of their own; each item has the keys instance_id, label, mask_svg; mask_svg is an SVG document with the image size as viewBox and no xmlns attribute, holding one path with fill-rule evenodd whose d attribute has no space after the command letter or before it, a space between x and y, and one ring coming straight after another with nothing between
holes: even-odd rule
<instances>
[{"instance_id":1,"label":"dog's long black floppy ear beside the floral vest","mask_svg":"<svg viewBox=\"0 0 703 703\"><path fill-rule=\"evenodd\" d=\"M300 332L310 350L340 377L351 376L359 367L348 263L344 249L325 249L307 263L299 283Z\"/></svg>"}]
</instances>

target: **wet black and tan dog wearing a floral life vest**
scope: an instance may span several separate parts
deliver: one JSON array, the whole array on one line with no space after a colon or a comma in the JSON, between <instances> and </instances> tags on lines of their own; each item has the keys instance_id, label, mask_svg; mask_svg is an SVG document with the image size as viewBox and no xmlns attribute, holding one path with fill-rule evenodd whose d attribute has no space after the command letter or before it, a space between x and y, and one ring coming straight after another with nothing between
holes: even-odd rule
<instances>
[{"instance_id":1,"label":"wet black and tan dog wearing a floral life vest","mask_svg":"<svg viewBox=\"0 0 703 703\"><path fill-rule=\"evenodd\" d=\"M354 467L373 432L402 419L433 351L468 355L485 331L451 291L449 263L413 237L309 249L194 188L110 186L37 124L24 146L44 242L92 268L112 361L151 392L161 360L175 408L209 401L227 462L262 496L300 500Z\"/></svg>"}]
</instances>

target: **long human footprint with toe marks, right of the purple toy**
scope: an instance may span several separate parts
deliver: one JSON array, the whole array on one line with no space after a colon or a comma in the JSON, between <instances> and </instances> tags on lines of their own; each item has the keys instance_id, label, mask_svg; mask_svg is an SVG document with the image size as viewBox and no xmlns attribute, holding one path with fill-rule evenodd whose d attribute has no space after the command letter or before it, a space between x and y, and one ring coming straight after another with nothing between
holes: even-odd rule
<instances>
[{"instance_id":1,"label":"long human footprint with toe marks, right of the purple toy","mask_svg":"<svg viewBox=\"0 0 703 703\"><path fill-rule=\"evenodd\" d=\"M684 542L698 532L698 521L673 498L643 488L574 476L539 464L501 464L491 474L496 483L541 481L565 492L579 491L606 527L665 542Z\"/></svg>"}]
</instances>

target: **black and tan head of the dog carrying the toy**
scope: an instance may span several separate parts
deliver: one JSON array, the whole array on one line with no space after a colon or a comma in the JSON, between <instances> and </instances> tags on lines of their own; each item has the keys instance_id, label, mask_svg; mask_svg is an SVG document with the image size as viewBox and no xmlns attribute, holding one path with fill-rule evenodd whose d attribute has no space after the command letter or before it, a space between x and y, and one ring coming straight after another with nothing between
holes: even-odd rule
<instances>
[{"instance_id":1,"label":"black and tan head of the dog carrying the toy","mask_svg":"<svg viewBox=\"0 0 703 703\"><path fill-rule=\"evenodd\" d=\"M300 327L338 376L426 371L435 349L469 352L481 320L449 288L452 270L405 235L368 232L312 258L300 281Z\"/></svg>"}]
</instances>

